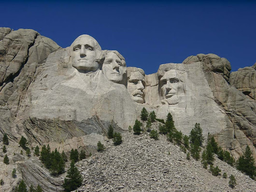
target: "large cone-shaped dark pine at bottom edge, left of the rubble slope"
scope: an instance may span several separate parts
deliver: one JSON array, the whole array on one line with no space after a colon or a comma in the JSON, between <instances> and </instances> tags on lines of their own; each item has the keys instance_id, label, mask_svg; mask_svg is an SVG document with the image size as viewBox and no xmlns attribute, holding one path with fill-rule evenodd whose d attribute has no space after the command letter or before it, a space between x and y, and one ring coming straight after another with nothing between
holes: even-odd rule
<instances>
[{"instance_id":1,"label":"large cone-shaped dark pine at bottom edge, left of the rubble slope","mask_svg":"<svg viewBox=\"0 0 256 192\"><path fill-rule=\"evenodd\" d=\"M79 173L74 161L71 162L70 168L68 170L67 177L64 179L63 188L65 192L71 192L76 190L82 185L82 176Z\"/></svg>"}]
</instances>

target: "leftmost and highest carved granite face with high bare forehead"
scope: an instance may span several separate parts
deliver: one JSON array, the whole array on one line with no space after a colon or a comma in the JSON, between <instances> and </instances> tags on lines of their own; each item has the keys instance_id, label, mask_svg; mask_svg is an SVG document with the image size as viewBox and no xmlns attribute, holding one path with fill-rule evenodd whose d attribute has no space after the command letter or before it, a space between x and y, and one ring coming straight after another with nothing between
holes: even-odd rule
<instances>
[{"instance_id":1,"label":"leftmost and highest carved granite face with high bare forehead","mask_svg":"<svg viewBox=\"0 0 256 192\"><path fill-rule=\"evenodd\" d=\"M89 35L79 36L71 44L71 64L74 68L88 72L100 68L96 62L97 51L99 52L98 42Z\"/></svg>"}]
</instances>

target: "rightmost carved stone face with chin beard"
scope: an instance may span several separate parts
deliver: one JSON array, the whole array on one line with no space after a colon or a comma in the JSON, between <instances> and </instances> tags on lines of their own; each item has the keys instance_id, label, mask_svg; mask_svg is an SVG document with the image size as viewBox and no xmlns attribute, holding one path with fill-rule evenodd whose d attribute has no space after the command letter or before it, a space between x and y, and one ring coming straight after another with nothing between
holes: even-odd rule
<instances>
[{"instance_id":1,"label":"rightmost carved stone face with chin beard","mask_svg":"<svg viewBox=\"0 0 256 192\"><path fill-rule=\"evenodd\" d=\"M160 79L160 92L163 97L163 101L167 101L169 105L174 105L179 102L178 95L183 90L183 82L179 72L171 69L165 72L164 76Z\"/></svg>"}]
</instances>

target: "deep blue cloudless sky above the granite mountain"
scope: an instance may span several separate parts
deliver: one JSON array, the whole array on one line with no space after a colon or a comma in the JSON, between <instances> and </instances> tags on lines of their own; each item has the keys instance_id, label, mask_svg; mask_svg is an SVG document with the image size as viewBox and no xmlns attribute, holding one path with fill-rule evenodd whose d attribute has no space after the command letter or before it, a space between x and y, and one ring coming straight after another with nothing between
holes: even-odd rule
<instances>
[{"instance_id":1,"label":"deep blue cloudless sky above the granite mountain","mask_svg":"<svg viewBox=\"0 0 256 192\"><path fill-rule=\"evenodd\" d=\"M227 58L232 71L256 63L253 1L71 2L0 1L0 27L31 28L63 48L88 34L146 74L199 53Z\"/></svg>"}]
</instances>

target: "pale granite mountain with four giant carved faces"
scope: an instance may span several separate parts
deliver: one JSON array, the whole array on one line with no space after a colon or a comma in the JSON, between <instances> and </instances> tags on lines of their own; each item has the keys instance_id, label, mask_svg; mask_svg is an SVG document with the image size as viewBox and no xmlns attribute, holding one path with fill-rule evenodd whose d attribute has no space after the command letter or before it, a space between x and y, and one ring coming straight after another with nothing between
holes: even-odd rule
<instances>
[{"instance_id":1,"label":"pale granite mountain with four giant carved faces","mask_svg":"<svg viewBox=\"0 0 256 192\"><path fill-rule=\"evenodd\" d=\"M128 130L144 107L158 119L170 112L186 135L200 123L236 159L247 145L256 158L256 64L230 73L226 58L199 54L149 75L134 65L89 35L61 48L34 30L1 27L0 140L95 153L110 124Z\"/></svg>"}]
</instances>

